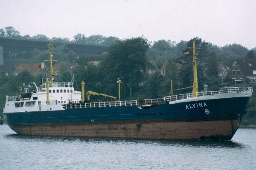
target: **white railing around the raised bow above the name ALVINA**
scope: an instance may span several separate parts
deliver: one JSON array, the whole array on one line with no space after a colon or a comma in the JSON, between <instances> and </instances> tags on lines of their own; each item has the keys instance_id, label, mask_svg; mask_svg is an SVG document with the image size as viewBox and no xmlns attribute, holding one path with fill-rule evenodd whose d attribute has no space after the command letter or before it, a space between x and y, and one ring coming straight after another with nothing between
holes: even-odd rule
<instances>
[{"instance_id":1,"label":"white railing around the raised bow above the name ALVINA","mask_svg":"<svg viewBox=\"0 0 256 170\"><path fill-rule=\"evenodd\" d=\"M227 88L221 88L220 91L206 91L206 92L202 91L197 93L166 96L163 98L163 100L164 102L172 102L176 100L190 99L192 97L210 96L210 95L225 94L225 93L244 93L245 91L253 92L253 88L252 87L227 87Z\"/></svg>"}]
</instances>

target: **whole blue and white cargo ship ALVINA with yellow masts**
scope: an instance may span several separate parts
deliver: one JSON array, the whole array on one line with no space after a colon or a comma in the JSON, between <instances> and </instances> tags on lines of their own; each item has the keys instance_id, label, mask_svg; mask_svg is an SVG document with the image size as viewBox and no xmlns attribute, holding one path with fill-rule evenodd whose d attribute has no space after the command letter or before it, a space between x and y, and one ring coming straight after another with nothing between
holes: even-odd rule
<instances>
[{"instance_id":1,"label":"whole blue and white cargo ship ALVINA with yellow masts","mask_svg":"<svg viewBox=\"0 0 256 170\"><path fill-rule=\"evenodd\" d=\"M190 49L192 93L143 101L121 101L119 97L118 101L86 102L85 95L89 98L101 94L85 93L84 82L81 92L75 90L72 82L55 82L50 44L50 78L39 87L34 83L33 92L6 96L4 119L22 135L231 140L253 88L225 87L198 92L195 42Z\"/></svg>"}]
</instances>

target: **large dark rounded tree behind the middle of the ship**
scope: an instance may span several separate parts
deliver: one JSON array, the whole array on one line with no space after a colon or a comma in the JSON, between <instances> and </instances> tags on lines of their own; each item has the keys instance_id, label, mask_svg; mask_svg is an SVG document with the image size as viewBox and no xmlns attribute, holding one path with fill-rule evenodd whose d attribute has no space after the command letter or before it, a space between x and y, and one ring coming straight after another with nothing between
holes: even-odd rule
<instances>
[{"instance_id":1,"label":"large dark rounded tree behind the middle of the ship","mask_svg":"<svg viewBox=\"0 0 256 170\"><path fill-rule=\"evenodd\" d=\"M106 77L113 82L120 77L123 85L128 85L129 96L133 86L142 82L143 72L146 69L145 53L149 42L144 37L119 40L108 49L106 59Z\"/></svg>"}]
</instances>

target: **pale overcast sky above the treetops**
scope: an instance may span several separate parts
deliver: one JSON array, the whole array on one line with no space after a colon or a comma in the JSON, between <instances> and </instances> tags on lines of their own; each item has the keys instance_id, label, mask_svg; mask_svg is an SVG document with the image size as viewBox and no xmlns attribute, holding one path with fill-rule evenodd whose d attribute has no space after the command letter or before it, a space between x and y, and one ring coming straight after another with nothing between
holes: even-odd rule
<instances>
[{"instance_id":1,"label":"pale overcast sky above the treetops","mask_svg":"<svg viewBox=\"0 0 256 170\"><path fill-rule=\"evenodd\" d=\"M218 46L256 47L256 0L0 0L0 28L21 35L81 33L149 41L200 37Z\"/></svg>"}]
</instances>

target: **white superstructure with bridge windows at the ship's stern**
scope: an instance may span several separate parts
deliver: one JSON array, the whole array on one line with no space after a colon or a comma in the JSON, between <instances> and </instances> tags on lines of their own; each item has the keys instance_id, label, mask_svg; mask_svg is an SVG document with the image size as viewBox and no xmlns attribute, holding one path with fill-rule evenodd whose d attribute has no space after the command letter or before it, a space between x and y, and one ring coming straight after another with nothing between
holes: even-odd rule
<instances>
[{"instance_id":1,"label":"white superstructure with bridge windows at the ship's stern","mask_svg":"<svg viewBox=\"0 0 256 170\"><path fill-rule=\"evenodd\" d=\"M35 85L35 83L34 83ZM36 91L27 96L6 96L5 113L63 110L61 105L79 103L81 91L75 91L72 82L52 82L49 84L49 102L47 105L47 87L43 83Z\"/></svg>"}]
</instances>

